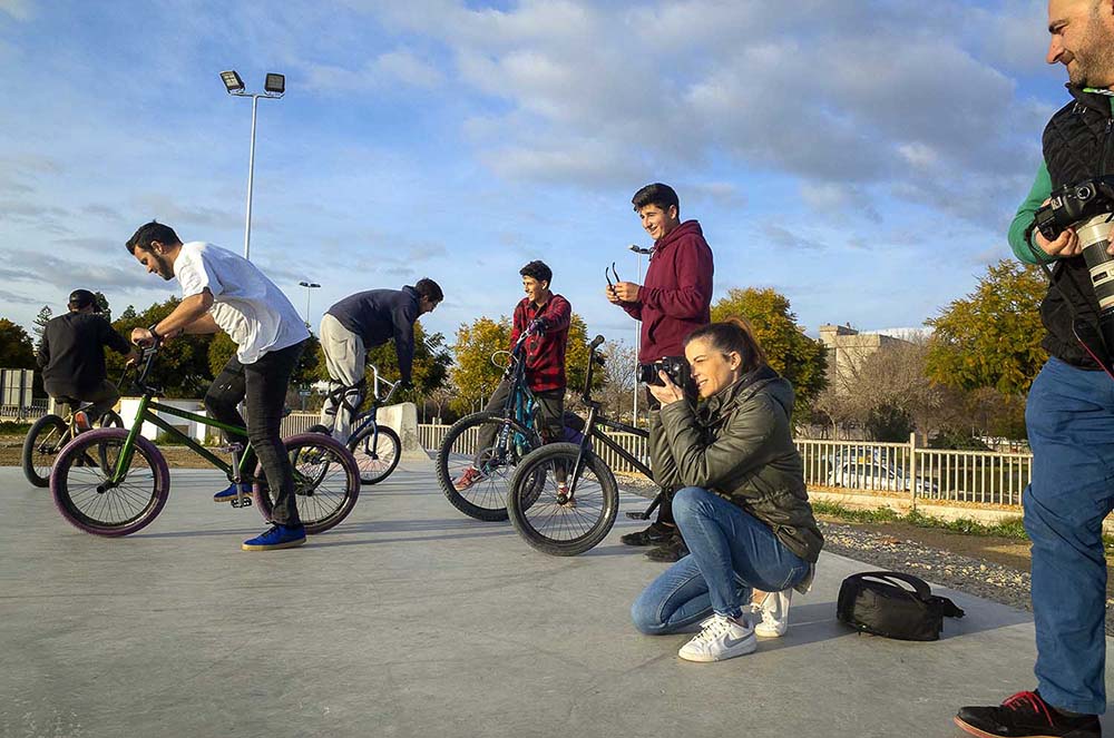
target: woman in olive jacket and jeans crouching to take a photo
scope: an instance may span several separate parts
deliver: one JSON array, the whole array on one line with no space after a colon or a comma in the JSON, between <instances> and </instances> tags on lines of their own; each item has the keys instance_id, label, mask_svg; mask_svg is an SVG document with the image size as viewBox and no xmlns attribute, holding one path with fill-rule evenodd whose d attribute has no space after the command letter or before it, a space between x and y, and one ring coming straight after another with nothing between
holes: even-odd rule
<instances>
[{"instance_id":1,"label":"woman in olive jacket and jeans crouching to take a photo","mask_svg":"<svg viewBox=\"0 0 1114 738\"><path fill-rule=\"evenodd\" d=\"M665 374L651 386L662 410L651 425L655 478L677 489L673 512L691 551L631 608L651 636L700 632L680 651L721 661L756 647L752 589L804 591L823 537L812 515L793 444L793 387L766 365L741 319L712 323L685 340L700 402Z\"/></svg>"}]
</instances>

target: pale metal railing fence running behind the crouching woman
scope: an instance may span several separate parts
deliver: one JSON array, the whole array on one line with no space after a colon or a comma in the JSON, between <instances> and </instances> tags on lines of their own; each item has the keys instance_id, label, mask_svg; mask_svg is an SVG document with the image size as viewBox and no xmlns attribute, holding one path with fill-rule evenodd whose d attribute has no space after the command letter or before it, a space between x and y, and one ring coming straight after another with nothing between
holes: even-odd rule
<instances>
[{"instance_id":1,"label":"pale metal railing fence running behind the crouching woman","mask_svg":"<svg viewBox=\"0 0 1114 738\"><path fill-rule=\"evenodd\" d=\"M418 439L436 452L448 425L420 424ZM475 452L477 430L466 439ZM619 446L648 463L646 439L633 433L607 433ZM616 472L636 471L610 449L596 451ZM964 502L975 505L1019 505L1022 491L1033 476L1033 456L1027 453L946 451L909 443L820 441L798 439L810 486L843 488L918 500Z\"/></svg>"}]
</instances>

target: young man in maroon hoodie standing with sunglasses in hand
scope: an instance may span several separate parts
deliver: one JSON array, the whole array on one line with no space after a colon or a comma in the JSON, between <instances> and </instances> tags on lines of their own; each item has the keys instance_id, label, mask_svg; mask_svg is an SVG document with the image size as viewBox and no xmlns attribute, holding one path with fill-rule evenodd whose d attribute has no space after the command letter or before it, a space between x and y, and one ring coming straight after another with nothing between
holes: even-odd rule
<instances>
[{"instance_id":1,"label":"young man in maroon hoodie standing with sunglasses in hand","mask_svg":"<svg viewBox=\"0 0 1114 738\"><path fill-rule=\"evenodd\" d=\"M712 319L712 249L704 240L700 223L681 222L681 203L668 185L646 185L631 201L642 227L654 239L654 253L645 283L619 282L607 288L607 299L642 321L641 365L662 360L685 364L685 336ZM639 375L646 373L639 371ZM648 374L656 377L657 371L651 370ZM656 411L659 403L648 394L647 397L651 410ZM655 561L677 561L687 553L673 520L668 495L649 528L627 533L620 540L627 545L657 544L646 554Z\"/></svg>"}]
</instances>

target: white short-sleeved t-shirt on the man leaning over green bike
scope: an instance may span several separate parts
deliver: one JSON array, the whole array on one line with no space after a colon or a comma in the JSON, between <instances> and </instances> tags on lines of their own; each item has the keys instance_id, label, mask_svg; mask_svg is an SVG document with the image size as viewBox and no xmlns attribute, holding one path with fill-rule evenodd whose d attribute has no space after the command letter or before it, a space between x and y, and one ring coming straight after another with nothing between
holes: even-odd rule
<instances>
[{"instance_id":1,"label":"white short-sleeved t-shirt on the man leaning over green bike","mask_svg":"<svg viewBox=\"0 0 1114 738\"><path fill-rule=\"evenodd\" d=\"M227 249L199 240L183 244L174 276L183 298L206 287L213 293L209 313L236 344L241 364L254 364L267 352L310 337L286 295L254 264Z\"/></svg>"}]
</instances>

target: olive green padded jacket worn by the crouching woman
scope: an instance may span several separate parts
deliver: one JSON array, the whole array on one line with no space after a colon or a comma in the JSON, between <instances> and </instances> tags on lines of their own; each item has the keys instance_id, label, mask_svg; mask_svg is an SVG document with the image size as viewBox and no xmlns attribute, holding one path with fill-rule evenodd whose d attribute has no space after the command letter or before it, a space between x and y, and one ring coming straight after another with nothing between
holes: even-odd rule
<instances>
[{"instance_id":1,"label":"olive green padded jacket worn by the crouching woman","mask_svg":"<svg viewBox=\"0 0 1114 738\"><path fill-rule=\"evenodd\" d=\"M815 563L823 545L789 422L793 387L762 367L701 403L654 413L654 478L667 490L700 486L769 525L789 550Z\"/></svg>"}]
</instances>

